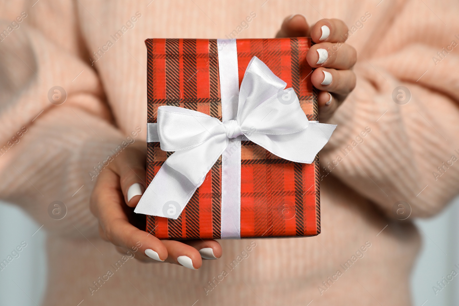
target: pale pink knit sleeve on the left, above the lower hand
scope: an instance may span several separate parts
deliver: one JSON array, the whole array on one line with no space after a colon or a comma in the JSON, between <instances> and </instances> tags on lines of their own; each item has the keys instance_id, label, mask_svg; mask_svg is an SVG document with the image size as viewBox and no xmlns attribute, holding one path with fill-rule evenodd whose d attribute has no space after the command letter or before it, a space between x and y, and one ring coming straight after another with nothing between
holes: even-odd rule
<instances>
[{"instance_id":1,"label":"pale pink knit sleeve on the left, above the lower hand","mask_svg":"<svg viewBox=\"0 0 459 306\"><path fill-rule=\"evenodd\" d=\"M22 24L0 43L0 84L0 198L51 234L97 235L90 192L107 157L132 141L113 124L95 70Z\"/></svg>"}]
</instances>

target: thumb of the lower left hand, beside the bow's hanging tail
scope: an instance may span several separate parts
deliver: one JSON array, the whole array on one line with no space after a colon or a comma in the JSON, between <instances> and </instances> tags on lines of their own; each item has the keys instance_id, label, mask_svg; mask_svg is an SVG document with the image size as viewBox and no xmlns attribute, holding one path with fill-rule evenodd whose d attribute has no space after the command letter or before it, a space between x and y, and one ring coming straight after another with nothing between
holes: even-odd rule
<instances>
[{"instance_id":1,"label":"thumb of the lower left hand, beside the bow's hanging tail","mask_svg":"<svg viewBox=\"0 0 459 306\"><path fill-rule=\"evenodd\" d=\"M146 189L146 145L128 147L114 160L124 201L135 207Z\"/></svg>"}]
</instances>

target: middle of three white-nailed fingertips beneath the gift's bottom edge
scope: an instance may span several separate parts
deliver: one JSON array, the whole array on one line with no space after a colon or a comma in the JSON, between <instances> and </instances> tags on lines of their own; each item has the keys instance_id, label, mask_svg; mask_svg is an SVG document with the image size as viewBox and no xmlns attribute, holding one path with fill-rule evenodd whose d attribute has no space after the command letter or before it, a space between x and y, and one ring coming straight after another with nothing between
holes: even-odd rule
<instances>
[{"instance_id":1,"label":"middle of three white-nailed fingertips beneath the gift's bottom edge","mask_svg":"<svg viewBox=\"0 0 459 306\"><path fill-rule=\"evenodd\" d=\"M202 266L201 254L191 245L175 240L161 240L168 250L167 262L197 270Z\"/></svg>"}]
</instances>

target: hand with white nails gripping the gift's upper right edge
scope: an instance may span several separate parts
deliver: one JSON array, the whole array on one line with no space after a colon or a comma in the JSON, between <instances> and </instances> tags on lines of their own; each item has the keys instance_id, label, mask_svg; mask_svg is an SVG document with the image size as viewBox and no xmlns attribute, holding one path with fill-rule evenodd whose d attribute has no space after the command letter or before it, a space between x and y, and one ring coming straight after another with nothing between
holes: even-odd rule
<instances>
[{"instance_id":1,"label":"hand with white nails gripping the gift's upper right edge","mask_svg":"<svg viewBox=\"0 0 459 306\"><path fill-rule=\"evenodd\" d=\"M276 37L311 36L315 45L308 50L309 66L317 68L311 75L319 89L319 121L327 121L355 87L355 74L350 70L357 52L344 42L347 26L339 19L322 19L312 27L302 15L285 18Z\"/></svg>"}]
</instances>

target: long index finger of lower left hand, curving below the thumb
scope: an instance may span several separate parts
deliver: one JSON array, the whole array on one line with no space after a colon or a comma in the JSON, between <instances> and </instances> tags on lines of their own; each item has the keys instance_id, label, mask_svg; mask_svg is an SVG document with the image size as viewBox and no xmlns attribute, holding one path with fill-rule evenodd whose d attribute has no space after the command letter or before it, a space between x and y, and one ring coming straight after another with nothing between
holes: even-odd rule
<instances>
[{"instance_id":1,"label":"long index finger of lower left hand, curving below the thumb","mask_svg":"<svg viewBox=\"0 0 459 306\"><path fill-rule=\"evenodd\" d=\"M129 223L123 195L119 188L118 175L108 168L99 174L91 197L92 211L98 217L103 233L112 244L132 250L137 257L150 261L164 261L168 250L153 235L146 233ZM129 211L128 211L129 212Z\"/></svg>"}]
</instances>

